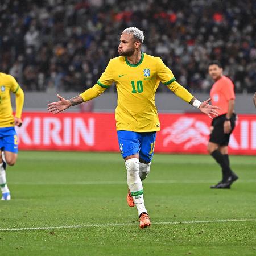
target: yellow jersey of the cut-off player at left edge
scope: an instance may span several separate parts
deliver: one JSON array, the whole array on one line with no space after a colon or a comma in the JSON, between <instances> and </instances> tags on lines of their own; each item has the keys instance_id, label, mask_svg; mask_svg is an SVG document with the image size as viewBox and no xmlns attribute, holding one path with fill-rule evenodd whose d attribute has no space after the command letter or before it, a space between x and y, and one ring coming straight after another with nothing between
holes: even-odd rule
<instances>
[{"instance_id":1,"label":"yellow jersey of the cut-off player at left edge","mask_svg":"<svg viewBox=\"0 0 256 256\"><path fill-rule=\"evenodd\" d=\"M16 94L16 117L20 118L24 102L23 90L13 76L0 73L0 127L14 126L11 92Z\"/></svg>"}]
</instances>

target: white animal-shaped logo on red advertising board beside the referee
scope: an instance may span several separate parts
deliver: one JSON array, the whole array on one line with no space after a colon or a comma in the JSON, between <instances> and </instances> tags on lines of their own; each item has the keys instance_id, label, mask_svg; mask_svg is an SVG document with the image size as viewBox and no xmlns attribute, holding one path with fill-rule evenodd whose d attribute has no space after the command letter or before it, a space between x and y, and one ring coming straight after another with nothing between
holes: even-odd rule
<instances>
[{"instance_id":1,"label":"white animal-shaped logo on red advertising board beside the referee","mask_svg":"<svg viewBox=\"0 0 256 256\"><path fill-rule=\"evenodd\" d=\"M181 117L163 129L163 146L167 147L169 143L184 144L184 150L188 150L199 144L206 145L209 138L209 127L203 121L196 118Z\"/></svg>"}]
</instances>

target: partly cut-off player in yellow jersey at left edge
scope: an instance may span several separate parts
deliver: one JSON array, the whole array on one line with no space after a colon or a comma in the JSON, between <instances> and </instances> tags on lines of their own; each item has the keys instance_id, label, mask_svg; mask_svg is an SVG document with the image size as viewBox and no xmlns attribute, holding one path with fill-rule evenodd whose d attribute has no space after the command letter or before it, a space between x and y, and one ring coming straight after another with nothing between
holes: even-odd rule
<instances>
[{"instance_id":1,"label":"partly cut-off player in yellow jersey at left edge","mask_svg":"<svg viewBox=\"0 0 256 256\"><path fill-rule=\"evenodd\" d=\"M13 116L11 92L16 96L16 114ZM0 187L2 200L11 200L6 183L6 164L13 166L18 156L18 137L14 126L22 125L24 93L13 76L0 73Z\"/></svg>"}]
</instances>

